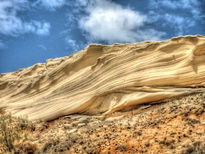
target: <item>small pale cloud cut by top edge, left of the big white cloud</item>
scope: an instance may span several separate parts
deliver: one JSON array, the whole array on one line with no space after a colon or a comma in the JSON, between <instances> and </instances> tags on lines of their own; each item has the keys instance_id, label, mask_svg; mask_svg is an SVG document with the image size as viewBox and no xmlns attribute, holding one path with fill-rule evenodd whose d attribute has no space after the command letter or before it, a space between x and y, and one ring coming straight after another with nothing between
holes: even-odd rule
<instances>
[{"instance_id":1,"label":"small pale cloud cut by top edge, left of the big white cloud","mask_svg":"<svg viewBox=\"0 0 205 154\"><path fill-rule=\"evenodd\" d=\"M66 4L65 0L39 0L38 3L51 10L60 8Z\"/></svg>"}]
</instances>

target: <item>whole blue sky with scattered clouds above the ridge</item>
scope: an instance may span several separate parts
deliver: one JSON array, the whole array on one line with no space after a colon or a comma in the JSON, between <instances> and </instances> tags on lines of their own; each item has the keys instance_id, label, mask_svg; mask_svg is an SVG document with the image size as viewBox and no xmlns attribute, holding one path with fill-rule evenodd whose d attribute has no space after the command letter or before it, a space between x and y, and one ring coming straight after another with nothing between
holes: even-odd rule
<instances>
[{"instance_id":1,"label":"whole blue sky with scattered clouds above the ridge","mask_svg":"<svg viewBox=\"0 0 205 154\"><path fill-rule=\"evenodd\" d=\"M205 35L205 0L0 0L0 73L90 43Z\"/></svg>"}]
</instances>

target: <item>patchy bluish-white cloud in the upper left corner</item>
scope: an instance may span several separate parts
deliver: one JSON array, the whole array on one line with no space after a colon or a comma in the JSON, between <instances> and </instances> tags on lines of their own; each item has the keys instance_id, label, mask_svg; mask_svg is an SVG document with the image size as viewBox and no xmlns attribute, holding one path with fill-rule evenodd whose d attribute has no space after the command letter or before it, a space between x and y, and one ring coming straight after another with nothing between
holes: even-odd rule
<instances>
[{"instance_id":1,"label":"patchy bluish-white cloud in the upper left corner","mask_svg":"<svg viewBox=\"0 0 205 154\"><path fill-rule=\"evenodd\" d=\"M48 22L30 21L24 22L17 14L18 11L28 6L26 0L0 1L0 33L4 35L18 35L34 33L38 35L49 34Z\"/></svg>"}]
</instances>

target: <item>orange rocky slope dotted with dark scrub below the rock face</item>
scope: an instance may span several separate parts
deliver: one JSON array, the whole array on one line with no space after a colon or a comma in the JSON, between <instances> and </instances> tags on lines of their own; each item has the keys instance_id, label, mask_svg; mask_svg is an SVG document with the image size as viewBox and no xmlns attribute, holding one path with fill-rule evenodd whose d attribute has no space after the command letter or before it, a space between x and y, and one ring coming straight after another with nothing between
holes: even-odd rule
<instances>
[{"instance_id":1,"label":"orange rocky slope dotted with dark scrub below the rock face","mask_svg":"<svg viewBox=\"0 0 205 154\"><path fill-rule=\"evenodd\" d=\"M28 130L27 130L28 131ZM38 122L21 152L205 153L205 94L101 116Z\"/></svg>"}]
</instances>

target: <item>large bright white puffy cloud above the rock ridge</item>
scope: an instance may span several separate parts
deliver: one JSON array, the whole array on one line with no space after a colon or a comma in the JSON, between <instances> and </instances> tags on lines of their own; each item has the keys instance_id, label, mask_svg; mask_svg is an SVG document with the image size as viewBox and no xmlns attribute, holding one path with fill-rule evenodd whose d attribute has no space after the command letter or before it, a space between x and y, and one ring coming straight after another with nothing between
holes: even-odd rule
<instances>
[{"instance_id":1,"label":"large bright white puffy cloud above the rock ridge","mask_svg":"<svg viewBox=\"0 0 205 154\"><path fill-rule=\"evenodd\" d=\"M88 16L79 22L79 27L89 34L89 40L114 43L161 39L162 32L143 29L148 21L146 15L109 0L92 2L87 7Z\"/></svg>"}]
</instances>

